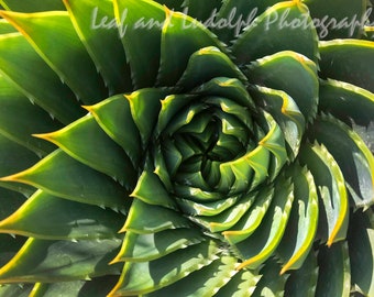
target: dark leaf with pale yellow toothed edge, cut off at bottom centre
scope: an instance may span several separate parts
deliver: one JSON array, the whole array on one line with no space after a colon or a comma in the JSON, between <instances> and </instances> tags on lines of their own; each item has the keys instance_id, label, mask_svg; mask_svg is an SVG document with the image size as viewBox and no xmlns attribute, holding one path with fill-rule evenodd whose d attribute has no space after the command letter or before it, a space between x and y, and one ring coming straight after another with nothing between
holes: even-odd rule
<instances>
[{"instance_id":1,"label":"dark leaf with pale yellow toothed edge, cut off at bottom centre","mask_svg":"<svg viewBox=\"0 0 374 297\"><path fill-rule=\"evenodd\" d=\"M234 270L237 258L222 256L210 265L202 267L179 282L148 294L150 297L173 296L217 296L216 292L224 287L238 272ZM231 294L229 296L232 296Z\"/></svg>"}]
</instances>

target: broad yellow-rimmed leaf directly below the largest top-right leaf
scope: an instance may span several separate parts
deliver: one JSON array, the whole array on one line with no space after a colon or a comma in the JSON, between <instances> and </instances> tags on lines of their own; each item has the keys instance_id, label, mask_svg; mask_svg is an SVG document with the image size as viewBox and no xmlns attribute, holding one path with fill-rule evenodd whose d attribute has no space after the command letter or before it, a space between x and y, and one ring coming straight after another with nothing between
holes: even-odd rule
<instances>
[{"instance_id":1,"label":"broad yellow-rimmed leaf directly below the largest top-right leaf","mask_svg":"<svg viewBox=\"0 0 374 297\"><path fill-rule=\"evenodd\" d=\"M307 122L315 117L318 105L317 67L307 57L289 51L279 52L253 63L246 75L251 82L289 95Z\"/></svg>"}]
</instances>

